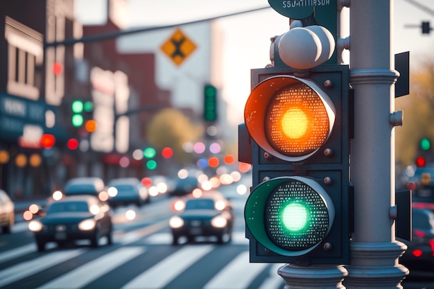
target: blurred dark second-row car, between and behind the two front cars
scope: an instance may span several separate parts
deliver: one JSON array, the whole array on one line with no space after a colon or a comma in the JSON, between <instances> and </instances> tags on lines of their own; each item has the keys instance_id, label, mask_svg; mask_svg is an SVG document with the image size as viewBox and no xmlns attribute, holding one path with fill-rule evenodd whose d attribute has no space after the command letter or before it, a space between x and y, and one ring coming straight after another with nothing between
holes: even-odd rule
<instances>
[{"instance_id":1,"label":"blurred dark second-row car, between and behind the two front cars","mask_svg":"<svg viewBox=\"0 0 434 289\"><path fill-rule=\"evenodd\" d=\"M129 204L141 207L150 202L148 189L135 177L112 179L107 187L107 193L110 196L107 202L113 208Z\"/></svg>"}]
</instances>

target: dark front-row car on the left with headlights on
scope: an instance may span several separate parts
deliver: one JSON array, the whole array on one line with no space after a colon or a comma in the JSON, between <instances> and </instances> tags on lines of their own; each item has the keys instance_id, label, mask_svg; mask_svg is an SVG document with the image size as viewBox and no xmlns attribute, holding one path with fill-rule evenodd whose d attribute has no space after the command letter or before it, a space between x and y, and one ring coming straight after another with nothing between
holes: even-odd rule
<instances>
[{"instance_id":1,"label":"dark front-row car on the left with headlights on","mask_svg":"<svg viewBox=\"0 0 434 289\"><path fill-rule=\"evenodd\" d=\"M76 240L90 240L92 247L98 247L103 236L112 244L110 206L93 195L64 197L48 204L44 212L44 216L28 223L39 252L44 251L49 242L62 246Z\"/></svg>"}]
</instances>

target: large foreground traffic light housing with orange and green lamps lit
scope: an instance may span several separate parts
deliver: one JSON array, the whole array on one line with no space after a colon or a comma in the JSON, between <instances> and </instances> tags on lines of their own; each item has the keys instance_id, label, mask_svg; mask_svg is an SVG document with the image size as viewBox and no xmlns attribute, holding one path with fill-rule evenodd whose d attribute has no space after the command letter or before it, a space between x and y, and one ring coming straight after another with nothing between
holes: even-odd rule
<instances>
[{"instance_id":1,"label":"large foreground traffic light housing with orange and green lamps lit","mask_svg":"<svg viewBox=\"0 0 434 289\"><path fill-rule=\"evenodd\" d=\"M254 69L252 87L244 112L252 139L250 262L349 263L348 67Z\"/></svg>"}]
</instances>

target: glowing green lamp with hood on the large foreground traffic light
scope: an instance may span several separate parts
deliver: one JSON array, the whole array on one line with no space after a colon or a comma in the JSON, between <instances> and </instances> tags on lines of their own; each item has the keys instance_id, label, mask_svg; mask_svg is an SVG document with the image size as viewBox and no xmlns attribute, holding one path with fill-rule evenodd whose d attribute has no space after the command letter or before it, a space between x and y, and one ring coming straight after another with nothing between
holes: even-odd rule
<instances>
[{"instance_id":1,"label":"glowing green lamp with hood on the large foreground traffic light","mask_svg":"<svg viewBox=\"0 0 434 289\"><path fill-rule=\"evenodd\" d=\"M276 177L250 193L244 210L252 236L282 256L301 256L320 245L335 216L322 186L307 177Z\"/></svg>"}]
</instances>

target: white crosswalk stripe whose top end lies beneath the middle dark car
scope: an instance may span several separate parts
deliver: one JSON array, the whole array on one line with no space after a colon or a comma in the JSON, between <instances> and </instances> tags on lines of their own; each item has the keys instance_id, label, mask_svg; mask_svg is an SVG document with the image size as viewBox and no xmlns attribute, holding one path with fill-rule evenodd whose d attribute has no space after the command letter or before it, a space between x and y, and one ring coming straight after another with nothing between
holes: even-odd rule
<instances>
[{"instance_id":1,"label":"white crosswalk stripe whose top end lies beneath the middle dark car","mask_svg":"<svg viewBox=\"0 0 434 289\"><path fill-rule=\"evenodd\" d=\"M123 289L162 288L213 248L212 245L183 247L132 279Z\"/></svg>"}]
</instances>

